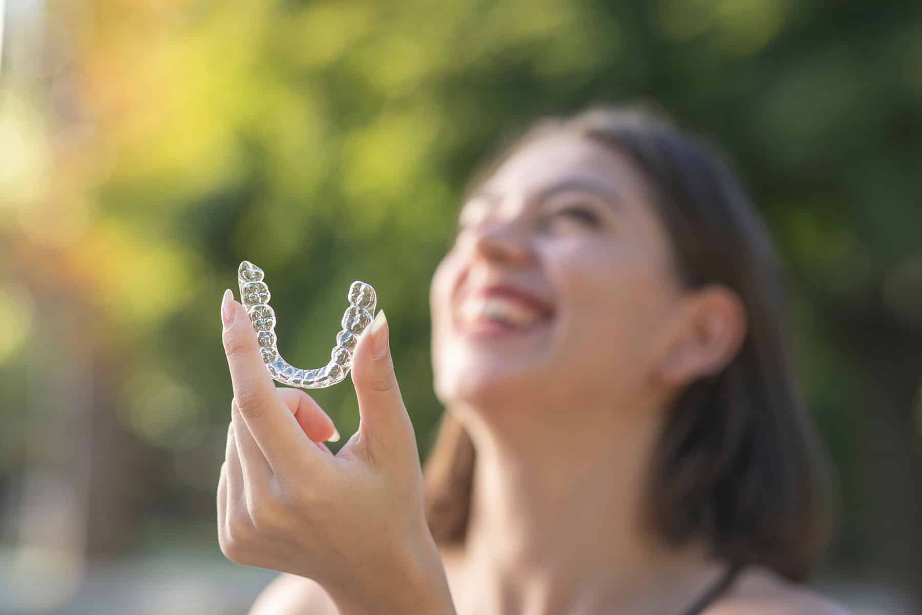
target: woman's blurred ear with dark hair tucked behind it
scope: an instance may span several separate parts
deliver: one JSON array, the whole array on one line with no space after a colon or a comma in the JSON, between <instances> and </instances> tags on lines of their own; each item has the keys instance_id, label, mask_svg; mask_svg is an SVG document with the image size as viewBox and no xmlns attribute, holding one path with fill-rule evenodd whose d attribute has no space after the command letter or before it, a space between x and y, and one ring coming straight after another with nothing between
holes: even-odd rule
<instances>
[{"instance_id":1,"label":"woman's blurred ear with dark hair tucked behind it","mask_svg":"<svg viewBox=\"0 0 922 615\"><path fill-rule=\"evenodd\" d=\"M683 385L720 373L746 337L746 309L739 295L722 284L694 290L656 373L664 384Z\"/></svg>"}]
</instances>

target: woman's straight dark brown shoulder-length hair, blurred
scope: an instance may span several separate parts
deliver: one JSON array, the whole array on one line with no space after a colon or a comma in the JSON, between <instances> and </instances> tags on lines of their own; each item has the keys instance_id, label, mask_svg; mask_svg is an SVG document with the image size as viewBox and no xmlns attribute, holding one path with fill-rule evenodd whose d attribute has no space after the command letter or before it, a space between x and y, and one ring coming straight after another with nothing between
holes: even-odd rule
<instances>
[{"instance_id":1,"label":"woman's straight dark brown shoulder-length hair, blurred","mask_svg":"<svg viewBox=\"0 0 922 615\"><path fill-rule=\"evenodd\" d=\"M785 284L761 217L714 149L638 107L544 119L470 187L527 142L561 131L626 154L651 189L681 283L725 285L747 311L734 360L689 384L668 408L647 478L647 517L673 545L705 538L716 557L806 580L833 529L833 472L791 370ZM467 432L445 412L424 469L439 544L465 538L474 460Z\"/></svg>"}]
</instances>

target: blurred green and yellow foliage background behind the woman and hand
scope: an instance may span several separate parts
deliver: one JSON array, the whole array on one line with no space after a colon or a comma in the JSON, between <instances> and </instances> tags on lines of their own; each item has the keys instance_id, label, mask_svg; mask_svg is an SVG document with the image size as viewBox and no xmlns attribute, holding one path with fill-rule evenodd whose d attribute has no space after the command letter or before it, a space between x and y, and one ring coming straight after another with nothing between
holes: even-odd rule
<instances>
[{"instance_id":1,"label":"blurred green and yellow foliage background behind the woman and hand","mask_svg":"<svg viewBox=\"0 0 922 615\"><path fill-rule=\"evenodd\" d=\"M922 612L920 7L0 0L0 613L245 612L273 574L215 529L238 263L318 365L372 281L425 455L468 174L541 114L638 99L727 150L783 254L841 481L813 585ZM313 396L348 439L352 387Z\"/></svg>"}]
</instances>

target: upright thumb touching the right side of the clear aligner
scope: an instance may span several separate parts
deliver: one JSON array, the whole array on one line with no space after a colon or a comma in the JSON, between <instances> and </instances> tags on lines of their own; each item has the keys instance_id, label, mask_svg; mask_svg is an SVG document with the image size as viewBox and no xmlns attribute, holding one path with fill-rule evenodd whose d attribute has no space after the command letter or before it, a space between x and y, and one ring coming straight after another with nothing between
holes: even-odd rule
<instances>
[{"instance_id":1,"label":"upright thumb touching the right side of the clear aligner","mask_svg":"<svg viewBox=\"0 0 922 615\"><path fill-rule=\"evenodd\" d=\"M352 383L359 400L359 431L372 460L412 455L419 462L413 424L394 373L384 310L359 339L352 355Z\"/></svg>"}]
</instances>

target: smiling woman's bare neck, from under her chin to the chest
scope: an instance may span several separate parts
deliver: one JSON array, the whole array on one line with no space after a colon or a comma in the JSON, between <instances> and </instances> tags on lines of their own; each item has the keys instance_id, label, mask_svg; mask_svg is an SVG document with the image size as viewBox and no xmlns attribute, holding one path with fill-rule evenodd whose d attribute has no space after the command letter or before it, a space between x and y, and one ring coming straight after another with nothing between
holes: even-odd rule
<instances>
[{"instance_id":1,"label":"smiling woman's bare neck, from under her chin to the chest","mask_svg":"<svg viewBox=\"0 0 922 615\"><path fill-rule=\"evenodd\" d=\"M561 417L559 408L537 416ZM644 526L656 410L607 424L598 420L613 414L610 403L595 413L581 407L581 417L598 419L584 420L583 431L545 424L524 434L466 421L477 461L465 576L476 591L460 597L459 612L679 613L722 573L702 545L671 549Z\"/></svg>"}]
</instances>

